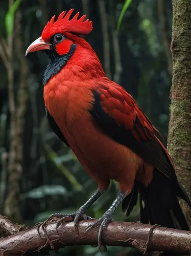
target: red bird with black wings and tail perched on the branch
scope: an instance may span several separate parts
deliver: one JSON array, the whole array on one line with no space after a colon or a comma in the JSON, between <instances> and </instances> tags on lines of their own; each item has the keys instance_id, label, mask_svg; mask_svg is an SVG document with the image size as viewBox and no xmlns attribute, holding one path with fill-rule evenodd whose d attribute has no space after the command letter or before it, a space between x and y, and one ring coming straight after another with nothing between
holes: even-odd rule
<instances>
[{"instance_id":1,"label":"red bird with black wings and tail perched on the branch","mask_svg":"<svg viewBox=\"0 0 191 256\"><path fill-rule=\"evenodd\" d=\"M43 86L47 119L56 135L73 150L86 172L97 181L96 193L69 215L75 226L87 220L87 209L107 190L110 180L120 193L105 214L101 234L122 202L128 216L140 194L143 223L189 230L177 197L191 203L178 182L172 159L160 133L125 89L106 77L91 46L79 35L91 32L92 22L69 19L73 9L47 23L41 37L27 49L43 50L49 59ZM142 203L144 202L144 204ZM68 215L57 215L64 220ZM60 223L59 221L59 223Z\"/></svg>"}]
</instances>

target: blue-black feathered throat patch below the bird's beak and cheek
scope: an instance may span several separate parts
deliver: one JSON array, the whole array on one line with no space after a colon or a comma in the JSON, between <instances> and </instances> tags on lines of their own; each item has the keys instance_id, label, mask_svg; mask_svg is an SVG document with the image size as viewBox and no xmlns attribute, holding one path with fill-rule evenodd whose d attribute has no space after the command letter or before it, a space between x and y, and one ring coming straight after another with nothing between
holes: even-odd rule
<instances>
[{"instance_id":1,"label":"blue-black feathered throat patch below the bird's beak and cheek","mask_svg":"<svg viewBox=\"0 0 191 256\"><path fill-rule=\"evenodd\" d=\"M75 52L76 47L77 46L75 44L71 45L69 52L62 56L58 55L54 51L50 51L50 50L46 51L46 54L49 58L49 64L47 65L46 70L44 72L44 76L42 80L43 86L45 86L47 81L49 81L49 79L54 75L58 74L58 72L64 67L68 59Z\"/></svg>"}]
</instances>

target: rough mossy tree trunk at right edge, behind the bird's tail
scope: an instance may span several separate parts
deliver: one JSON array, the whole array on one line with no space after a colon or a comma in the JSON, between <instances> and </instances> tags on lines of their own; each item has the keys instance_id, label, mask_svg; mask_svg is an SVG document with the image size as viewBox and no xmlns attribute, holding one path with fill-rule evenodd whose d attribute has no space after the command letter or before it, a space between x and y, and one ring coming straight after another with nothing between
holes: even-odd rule
<instances>
[{"instance_id":1,"label":"rough mossy tree trunk at right edge, behind the bird's tail","mask_svg":"<svg viewBox=\"0 0 191 256\"><path fill-rule=\"evenodd\" d=\"M179 181L191 198L191 3L173 0L173 82L171 88L168 150ZM181 206L191 228L191 212Z\"/></svg>"}]
</instances>

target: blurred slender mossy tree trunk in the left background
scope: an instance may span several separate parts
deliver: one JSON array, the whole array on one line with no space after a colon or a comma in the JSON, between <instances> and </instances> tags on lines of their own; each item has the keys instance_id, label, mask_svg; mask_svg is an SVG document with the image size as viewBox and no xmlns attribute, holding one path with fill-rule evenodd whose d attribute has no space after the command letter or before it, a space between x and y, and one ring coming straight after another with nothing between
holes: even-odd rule
<instances>
[{"instance_id":1,"label":"blurred slender mossy tree trunk in the left background","mask_svg":"<svg viewBox=\"0 0 191 256\"><path fill-rule=\"evenodd\" d=\"M27 108L28 101L28 78L29 71L25 53L23 51L22 37L21 37L21 12L17 10L15 16L15 53L17 55L19 63L19 88L17 90L16 102L13 104L14 111L11 109L11 102L14 99L14 80L12 70L12 82L9 95L12 93L10 98L10 113L11 113L11 133L10 133L10 153L9 153L9 179L8 179L8 195L5 201L4 212L14 222L21 221L20 212L20 178L22 175L22 134L25 122L25 111ZM13 62L11 62L13 65ZM9 71L10 72L10 71Z\"/></svg>"}]
</instances>

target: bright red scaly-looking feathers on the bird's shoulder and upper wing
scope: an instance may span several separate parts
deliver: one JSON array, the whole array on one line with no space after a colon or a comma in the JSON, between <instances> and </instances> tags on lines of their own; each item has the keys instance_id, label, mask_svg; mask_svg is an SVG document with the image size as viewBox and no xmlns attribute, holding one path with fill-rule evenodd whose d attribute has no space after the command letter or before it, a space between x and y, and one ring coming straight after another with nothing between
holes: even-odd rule
<instances>
[{"instance_id":1,"label":"bright red scaly-looking feathers on the bird's shoulder and upper wing","mask_svg":"<svg viewBox=\"0 0 191 256\"><path fill-rule=\"evenodd\" d=\"M105 78L97 82L93 95L97 111L102 109L118 125L126 131L130 130L137 141L153 138L154 127L151 121L122 86Z\"/></svg>"}]
</instances>

